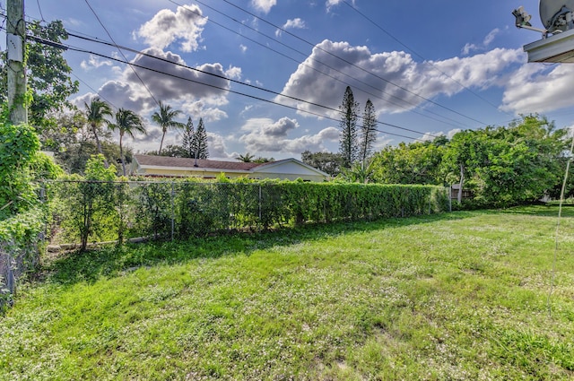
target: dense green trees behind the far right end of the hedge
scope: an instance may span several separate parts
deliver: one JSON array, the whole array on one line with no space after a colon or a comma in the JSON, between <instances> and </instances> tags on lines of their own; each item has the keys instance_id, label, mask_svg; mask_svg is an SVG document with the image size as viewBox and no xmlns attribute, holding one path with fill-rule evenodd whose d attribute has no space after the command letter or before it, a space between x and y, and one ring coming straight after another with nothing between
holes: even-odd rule
<instances>
[{"instance_id":1,"label":"dense green trees behind the far right end of the hedge","mask_svg":"<svg viewBox=\"0 0 574 381\"><path fill-rule=\"evenodd\" d=\"M458 184L483 206L528 203L559 194L568 141L566 129L526 116L509 126L462 131L450 141L387 146L375 155L374 178L387 184Z\"/></svg>"}]
</instances>

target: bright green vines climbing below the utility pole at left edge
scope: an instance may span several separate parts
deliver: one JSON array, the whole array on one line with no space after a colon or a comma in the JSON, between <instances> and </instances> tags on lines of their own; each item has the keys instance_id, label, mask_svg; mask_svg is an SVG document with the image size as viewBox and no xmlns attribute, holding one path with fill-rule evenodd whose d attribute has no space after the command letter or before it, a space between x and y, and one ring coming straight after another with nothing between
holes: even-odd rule
<instances>
[{"instance_id":1,"label":"bright green vines climbing below the utility pole at left edge","mask_svg":"<svg viewBox=\"0 0 574 381\"><path fill-rule=\"evenodd\" d=\"M28 125L0 121L0 309L12 298L14 279L39 262L39 234L45 220L36 181L61 173L39 152Z\"/></svg>"}]
</instances>

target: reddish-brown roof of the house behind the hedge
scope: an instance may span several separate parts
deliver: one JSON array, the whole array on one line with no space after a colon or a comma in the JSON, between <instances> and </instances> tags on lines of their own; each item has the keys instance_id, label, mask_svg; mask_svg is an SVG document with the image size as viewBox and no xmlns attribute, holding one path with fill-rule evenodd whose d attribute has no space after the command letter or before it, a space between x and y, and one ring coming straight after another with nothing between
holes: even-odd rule
<instances>
[{"instance_id":1,"label":"reddish-brown roof of the house behind the hedge","mask_svg":"<svg viewBox=\"0 0 574 381\"><path fill-rule=\"evenodd\" d=\"M242 161L195 160L170 158L168 156L134 155L134 157L140 165L154 167L251 170L261 165L260 163L245 163Z\"/></svg>"}]
</instances>

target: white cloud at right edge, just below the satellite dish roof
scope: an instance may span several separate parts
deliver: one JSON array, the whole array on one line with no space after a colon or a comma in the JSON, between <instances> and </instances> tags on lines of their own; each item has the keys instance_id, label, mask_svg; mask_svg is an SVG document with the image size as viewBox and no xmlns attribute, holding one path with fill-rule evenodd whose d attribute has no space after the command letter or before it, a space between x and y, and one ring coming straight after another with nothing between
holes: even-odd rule
<instances>
[{"instance_id":1,"label":"white cloud at right edge, just below the satellite dish roof","mask_svg":"<svg viewBox=\"0 0 574 381\"><path fill-rule=\"evenodd\" d=\"M501 109L527 114L572 107L572 82L573 65L555 65L550 69L545 65L523 65L509 77Z\"/></svg>"}]
</instances>

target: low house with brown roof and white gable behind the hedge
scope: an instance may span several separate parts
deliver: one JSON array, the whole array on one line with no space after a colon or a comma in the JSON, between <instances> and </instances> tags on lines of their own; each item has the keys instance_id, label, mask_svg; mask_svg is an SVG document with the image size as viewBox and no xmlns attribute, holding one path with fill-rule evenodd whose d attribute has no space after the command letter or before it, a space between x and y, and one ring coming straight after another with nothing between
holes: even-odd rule
<instances>
[{"instance_id":1,"label":"low house with brown roof and white gable behind the hedge","mask_svg":"<svg viewBox=\"0 0 574 381\"><path fill-rule=\"evenodd\" d=\"M325 172L296 159L266 163L241 161L196 160L166 156L134 155L132 173L153 177L216 178L224 173L228 178L278 178L321 182L329 178Z\"/></svg>"}]
</instances>

